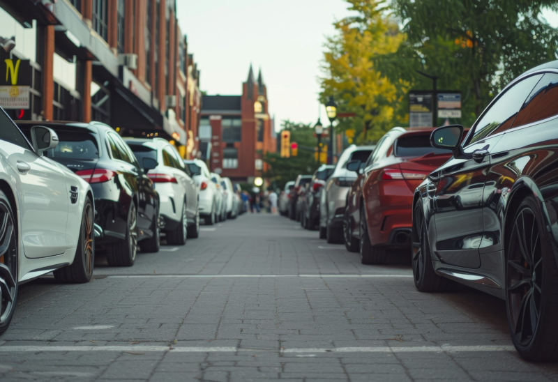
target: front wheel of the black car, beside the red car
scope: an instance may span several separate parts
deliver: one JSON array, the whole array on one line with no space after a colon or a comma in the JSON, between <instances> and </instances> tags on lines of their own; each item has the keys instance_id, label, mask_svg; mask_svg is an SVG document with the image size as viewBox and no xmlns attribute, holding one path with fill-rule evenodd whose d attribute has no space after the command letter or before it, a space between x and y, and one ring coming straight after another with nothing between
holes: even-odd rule
<instances>
[{"instance_id":1,"label":"front wheel of the black car, beside the red car","mask_svg":"<svg viewBox=\"0 0 558 382\"><path fill-rule=\"evenodd\" d=\"M412 263L414 286L421 292L442 292L448 290L454 283L435 273L432 267L432 255L426 224L423 214L422 201L417 201L413 211Z\"/></svg>"}]
</instances>

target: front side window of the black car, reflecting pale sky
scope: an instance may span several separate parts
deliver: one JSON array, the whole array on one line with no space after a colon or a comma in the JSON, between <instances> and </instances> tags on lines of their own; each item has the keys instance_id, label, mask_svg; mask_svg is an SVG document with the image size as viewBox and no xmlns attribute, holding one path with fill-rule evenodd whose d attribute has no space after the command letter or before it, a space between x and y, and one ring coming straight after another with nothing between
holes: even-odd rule
<instances>
[{"instance_id":1,"label":"front side window of the black car, reflecting pale sky","mask_svg":"<svg viewBox=\"0 0 558 382\"><path fill-rule=\"evenodd\" d=\"M504 94L499 95L496 102L475 124L474 133L467 142L467 146L511 128L521 105L542 76L527 77L506 90Z\"/></svg>"}]
</instances>

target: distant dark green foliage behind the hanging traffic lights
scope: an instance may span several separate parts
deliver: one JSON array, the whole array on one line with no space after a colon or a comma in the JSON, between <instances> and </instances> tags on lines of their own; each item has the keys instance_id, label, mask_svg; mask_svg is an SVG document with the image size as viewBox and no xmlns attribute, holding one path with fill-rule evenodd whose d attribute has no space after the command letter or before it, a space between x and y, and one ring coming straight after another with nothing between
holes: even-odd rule
<instances>
[{"instance_id":1,"label":"distant dark green foliage behind the hanging traffic lights","mask_svg":"<svg viewBox=\"0 0 558 382\"><path fill-rule=\"evenodd\" d=\"M285 183L296 180L299 174L313 174L319 165L314 157L313 150L317 146L317 139L314 137L312 126L287 120L282 121L281 127L282 130L289 130L291 142L299 145L298 155L281 158L279 153L265 153L264 162L269 163L270 168L264 173L264 177L271 183L275 181L275 185L282 189Z\"/></svg>"}]
</instances>

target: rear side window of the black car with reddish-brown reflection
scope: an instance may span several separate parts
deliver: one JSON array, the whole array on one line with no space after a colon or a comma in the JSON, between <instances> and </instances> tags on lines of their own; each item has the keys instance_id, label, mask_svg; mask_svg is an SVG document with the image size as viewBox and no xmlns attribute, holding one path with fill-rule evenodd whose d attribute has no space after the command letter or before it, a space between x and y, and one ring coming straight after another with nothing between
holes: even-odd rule
<instances>
[{"instance_id":1,"label":"rear side window of the black car with reddish-brown reflection","mask_svg":"<svg viewBox=\"0 0 558 382\"><path fill-rule=\"evenodd\" d=\"M546 73L522 105L513 128L558 115L558 75Z\"/></svg>"}]
</instances>

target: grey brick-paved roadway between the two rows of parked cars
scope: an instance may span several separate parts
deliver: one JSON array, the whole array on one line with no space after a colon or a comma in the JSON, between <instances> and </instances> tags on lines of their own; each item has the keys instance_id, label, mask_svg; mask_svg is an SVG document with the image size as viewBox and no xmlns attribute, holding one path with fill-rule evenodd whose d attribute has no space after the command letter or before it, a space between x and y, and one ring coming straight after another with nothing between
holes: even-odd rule
<instances>
[{"instance_id":1,"label":"grey brick-paved roadway between the two rows of parked cars","mask_svg":"<svg viewBox=\"0 0 558 382\"><path fill-rule=\"evenodd\" d=\"M98 259L89 284L22 286L0 380L558 379L511 349L501 300L418 293L409 266L362 266L282 217L216 228L132 268Z\"/></svg>"}]
</instances>

